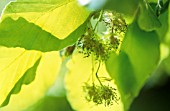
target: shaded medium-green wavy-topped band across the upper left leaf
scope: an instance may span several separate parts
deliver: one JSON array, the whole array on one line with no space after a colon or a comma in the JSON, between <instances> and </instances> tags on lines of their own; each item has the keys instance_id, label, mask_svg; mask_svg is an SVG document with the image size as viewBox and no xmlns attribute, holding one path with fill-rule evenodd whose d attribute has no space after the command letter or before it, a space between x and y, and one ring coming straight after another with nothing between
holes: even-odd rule
<instances>
[{"instance_id":1,"label":"shaded medium-green wavy-topped band across the upper left leaf","mask_svg":"<svg viewBox=\"0 0 170 111\"><path fill-rule=\"evenodd\" d=\"M6 47L22 47L27 50L42 52L60 50L74 44L84 33L85 24L81 25L67 38L60 40L23 18L14 21L6 18L0 24L0 45Z\"/></svg>"}]
</instances>

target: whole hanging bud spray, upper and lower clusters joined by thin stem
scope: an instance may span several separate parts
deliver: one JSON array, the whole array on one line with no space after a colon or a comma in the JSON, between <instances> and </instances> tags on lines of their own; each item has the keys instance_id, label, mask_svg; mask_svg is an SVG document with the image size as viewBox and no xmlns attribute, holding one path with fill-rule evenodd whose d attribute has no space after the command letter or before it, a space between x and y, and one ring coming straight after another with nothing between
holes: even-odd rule
<instances>
[{"instance_id":1,"label":"whole hanging bud spray, upper and lower clusters joined by thin stem","mask_svg":"<svg viewBox=\"0 0 170 111\"><path fill-rule=\"evenodd\" d=\"M102 32L101 27L105 29ZM95 59L99 61L96 78L100 84L96 85L94 81L92 84L85 83L83 91L86 93L85 98L87 101L92 101L96 105L104 104L105 106L113 105L114 102L118 103L120 98L117 96L116 89L109 85L103 85L98 77L98 70L100 62L106 61L112 52L119 53L126 30L127 24L125 20L121 14L116 12L96 12L89 19L86 31L79 38L76 48L85 57L94 55Z\"/></svg>"}]
</instances>

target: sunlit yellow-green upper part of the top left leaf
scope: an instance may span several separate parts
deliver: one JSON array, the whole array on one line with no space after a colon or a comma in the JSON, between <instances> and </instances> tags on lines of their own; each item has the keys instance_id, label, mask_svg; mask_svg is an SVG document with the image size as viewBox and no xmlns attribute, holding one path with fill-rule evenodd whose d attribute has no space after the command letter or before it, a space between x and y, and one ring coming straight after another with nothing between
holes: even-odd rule
<instances>
[{"instance_id":1,"label":"sunlit yellow-green upper part of the top left leaf","mask_svg":"<svg viewBox=\"0 0 170 111\"><path fill-rule=\"evenodd\" d=\"M80 7L76 0L18 0L5 9L3 20L19 17L34 23L58 39L65 39L82 25L89 12Z\"/></svg>"}]
</instances>

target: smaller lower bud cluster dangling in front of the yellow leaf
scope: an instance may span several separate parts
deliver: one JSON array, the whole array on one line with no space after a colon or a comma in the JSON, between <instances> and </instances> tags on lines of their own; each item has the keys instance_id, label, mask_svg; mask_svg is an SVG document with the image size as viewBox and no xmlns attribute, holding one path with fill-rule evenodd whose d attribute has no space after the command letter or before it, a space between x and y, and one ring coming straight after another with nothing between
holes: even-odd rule
<instances>
[{"instance_id":1,"label":"smaller lower bud cluster dangling in front of the yellow leaf","mask_svg":"<svg viewBox=\"0 0 170 111\"><path fill-rule=\"evenodd\" d=\"M89 85L86 83L83 90L86 93L86 100L93 101L96 105L110 106L113 105L113 102L118 103L120 99L117 96L116 89L109 85Z\"/></svg>"}]
</instances>

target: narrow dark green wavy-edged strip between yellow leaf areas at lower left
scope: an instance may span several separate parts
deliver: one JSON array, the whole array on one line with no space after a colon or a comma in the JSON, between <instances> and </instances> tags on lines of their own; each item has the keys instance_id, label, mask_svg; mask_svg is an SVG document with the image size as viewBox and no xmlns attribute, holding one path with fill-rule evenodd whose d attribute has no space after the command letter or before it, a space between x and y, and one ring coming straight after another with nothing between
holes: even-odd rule
<instances>
[{"instance_id":1,"label":"narrow dark green wavy-edged strip between yellow leaf areas at lower left","mask_svg":"<svg viewBox=\"0 0 170 111\"><path fill-rule=\"evenodd\" d=\"M25 72L25 74L23 74L23 76L18 80L18 82L15 84L15 86L9 92L8 96L6 97L5 101L1 104L0 107L6 106L9 103L11 95L19 93L23 84L28 85L35 79L36 70L39 65L39 62L40 62L40 59L38 59L37 62L34 64L34 66L29 68Z\"/></svg>"}]
</instances>

